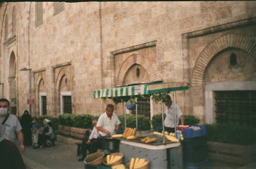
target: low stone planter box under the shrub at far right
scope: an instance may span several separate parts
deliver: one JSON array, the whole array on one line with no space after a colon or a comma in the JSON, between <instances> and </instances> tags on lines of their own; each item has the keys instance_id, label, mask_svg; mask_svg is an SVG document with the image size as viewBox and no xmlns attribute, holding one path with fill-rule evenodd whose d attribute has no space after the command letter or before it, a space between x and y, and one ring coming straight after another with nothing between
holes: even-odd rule
<instances>
[{"instance_id":1,"label":"low stone planter box under the shrub at far right","mask_svg":"<svg viewBox=\"0 0 256 169\"><path fill-rule=\"evenodd\" d=\"M233 145L218 142L207 142L208 158L237 163L248 164L256 159L256 144Z\"/></svg>"}]
</instances>

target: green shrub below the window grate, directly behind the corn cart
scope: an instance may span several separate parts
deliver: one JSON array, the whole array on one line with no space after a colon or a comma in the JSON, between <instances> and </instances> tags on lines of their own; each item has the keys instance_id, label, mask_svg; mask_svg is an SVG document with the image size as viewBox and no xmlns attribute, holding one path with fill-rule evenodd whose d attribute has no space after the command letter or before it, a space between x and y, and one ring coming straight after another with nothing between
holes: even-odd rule
<instances>
[{"instance_id":1,"label":"green shrub below the window grate, directly behind the corn cart","mask_svg":"<svg viewBox=\"0 0 256 169\"><path fill-rule=\"evenodd\" d=\"M124 129L124 115L118 116L121 121L120 130ZM126 115L126 127L136 128L136 116L132 114ZM143 115L138 115L138 130L150 130L150 118L147 118Z\"/></svg>"}]
</instances>

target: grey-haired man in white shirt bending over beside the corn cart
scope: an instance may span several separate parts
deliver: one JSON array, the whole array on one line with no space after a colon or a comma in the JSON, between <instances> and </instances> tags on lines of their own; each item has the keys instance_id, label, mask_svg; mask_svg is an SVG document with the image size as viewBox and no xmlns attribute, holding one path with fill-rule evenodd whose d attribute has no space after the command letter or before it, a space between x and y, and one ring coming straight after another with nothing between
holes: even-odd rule
<instances>
[{"instance_id":1,"label":"grey-haired man in white shirt bending over beside the corn cart","mask_svg":"<svg viewBox=\"0 0 256 169\"><path fill-rule=\"evenodd\" d=\"M97 129L101 136L116 134L121 123L118 116L113 113L113 104L106 105L106 111L100 115L97 122Z\"/></svg>"}]
</instances>

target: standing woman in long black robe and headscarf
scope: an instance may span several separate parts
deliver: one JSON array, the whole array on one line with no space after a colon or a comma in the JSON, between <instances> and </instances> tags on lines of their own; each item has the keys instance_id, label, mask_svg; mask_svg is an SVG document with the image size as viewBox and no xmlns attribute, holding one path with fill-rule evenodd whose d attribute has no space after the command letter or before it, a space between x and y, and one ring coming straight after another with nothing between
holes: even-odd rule
<instances>
[{"instance_id":1,"label":"standing woman in long black robe and headscarf","mask_svg":"<svg viewBox=\"0 0 256 169\"><path fill-rule=\"evenodd\" d=\"M22 115L22 120L20 121L20 124L22 125L22 132L24 135L24 145L30 146L32 145L32 118L29 115L29 111L25 110L24 114Z\"/></svg>"}]
</instances>

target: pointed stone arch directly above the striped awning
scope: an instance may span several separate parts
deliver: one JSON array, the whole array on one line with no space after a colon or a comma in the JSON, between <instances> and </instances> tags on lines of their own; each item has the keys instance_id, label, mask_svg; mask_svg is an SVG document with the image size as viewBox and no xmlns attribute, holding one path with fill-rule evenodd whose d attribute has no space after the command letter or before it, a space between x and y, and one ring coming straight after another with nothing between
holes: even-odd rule
<instances>
[{"instance_id":1,"label":"pointed stone arch directly above the striped awning","mask_svg":"<svg viewBox=\"0 0 256 169\"><path fill-rule=\"evenodd\" d=\"M140 54L132 54L123 62L122 66L120 67L120 70L117 76L117 86L123 85L123 80L124 80L125 74L127 73L127 70L129 70L129 68L134 64L141 65L150 76L151 81L157 80L156 71L154 70L151 63L147 59L142 57Z\"/></svg>"}]
</instances>

